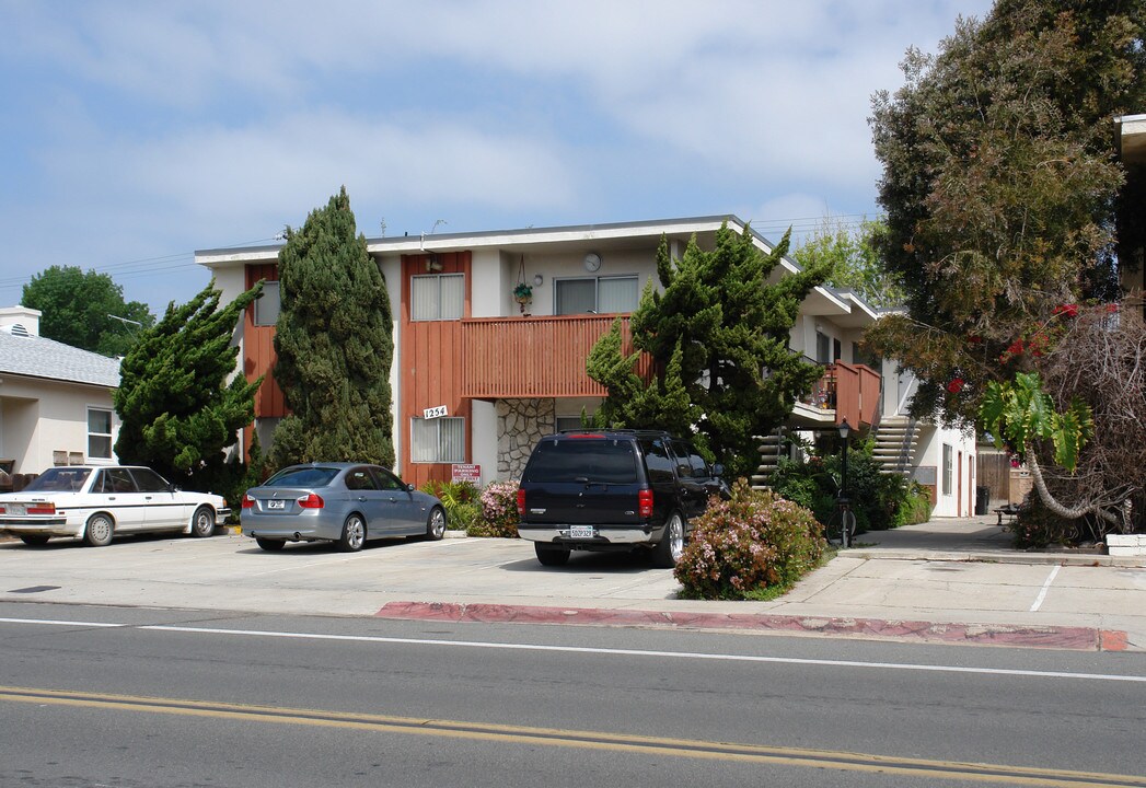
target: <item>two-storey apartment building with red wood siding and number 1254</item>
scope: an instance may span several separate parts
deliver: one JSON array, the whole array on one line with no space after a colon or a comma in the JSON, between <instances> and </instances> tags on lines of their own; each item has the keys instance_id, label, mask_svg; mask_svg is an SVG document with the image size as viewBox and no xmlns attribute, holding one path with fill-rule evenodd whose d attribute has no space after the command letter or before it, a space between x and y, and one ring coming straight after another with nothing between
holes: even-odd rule
<instances>
[{"instance_id":1,"label":"two-storey apartment building with red wood siding and number 1254","mask_svg":"<svg viewBox=\"0 0 1146 788\"><path fill-rule=\"evenodd\" d=\"M692 237L712 249L725 220L735 231L744 230L736 216L705 216L367 239L394 316L391 386L402 478L422 484L474 470L460 465L479 466L482 482L520 474L541 435L580 426L582 410L591 412L601 403L605 391L586 375L586 356L618 315L627 329L646 282L656 283L661 238L674 257ZM763 237L753 233L753 238L761 251L771 250ZM223 299L267 281L238 331L248 379L274 367L280 249L195 255L211 269ZM772 276L796 270L785 259ZM515 300L519 284L532 289L526 304ZM823 363L825 377L819 395L796 405L794 424L831 428L847 418L862 433L879 423L881 373L863 364L858 349L864 328L876 318L850 292L817 287L804 300L790 346ZM268 375L256 401L254 428L264 447L285 412ZM973 455L974 443L970 447ZM937 492L939 513L968 511L964 502L971 499L966 490L973 495L973 460L966 475L952 455L952 468L956 463L959 475Z\"/></svg>"}]
</instances>

